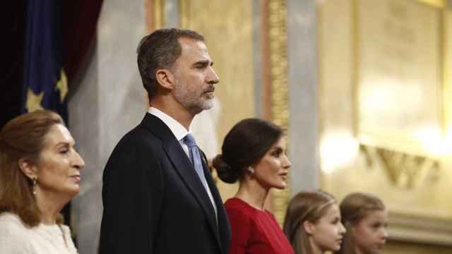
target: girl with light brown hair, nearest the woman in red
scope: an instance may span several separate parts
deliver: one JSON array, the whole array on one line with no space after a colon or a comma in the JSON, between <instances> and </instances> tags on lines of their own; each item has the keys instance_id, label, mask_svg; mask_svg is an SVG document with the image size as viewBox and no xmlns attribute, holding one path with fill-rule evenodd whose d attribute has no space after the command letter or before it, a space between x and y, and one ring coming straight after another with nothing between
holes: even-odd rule
<instances>
[{"instance_id":1,"label":"girl with light brown hair, nearest the woman in red","mask_svg":"<svg viewBox=\"0 0 452 254\"><path fill-rule=\"evenodd\" d=\"M345 228L338 202L323 191L298 193L287 207L284 232L297 254L339 250Z\"/></svg>"}]
</instances>

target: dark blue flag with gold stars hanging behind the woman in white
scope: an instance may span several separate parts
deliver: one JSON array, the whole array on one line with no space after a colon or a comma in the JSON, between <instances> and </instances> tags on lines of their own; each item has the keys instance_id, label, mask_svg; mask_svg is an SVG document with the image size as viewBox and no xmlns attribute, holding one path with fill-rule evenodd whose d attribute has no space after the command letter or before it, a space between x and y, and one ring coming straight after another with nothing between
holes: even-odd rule
<instances>
[{"instance_id":1,"label":"dark blue flag with gold stars hanging behind the woman in white","mask_svg":"<svg viewBox=\"0 0 452 254\"><path fill-rule=\"evenodd\" d=\"M67 123L68 83L62 66L61 1L28 0L25 26L21 111L50 109Z\"/></svg>"}]
</instances>

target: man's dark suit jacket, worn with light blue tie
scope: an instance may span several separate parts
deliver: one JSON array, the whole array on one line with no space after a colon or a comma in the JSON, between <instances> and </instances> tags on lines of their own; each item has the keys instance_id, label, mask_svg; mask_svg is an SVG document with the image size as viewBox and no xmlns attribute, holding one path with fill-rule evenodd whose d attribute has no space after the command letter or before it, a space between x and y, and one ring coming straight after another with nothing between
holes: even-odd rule
<instances>
[{"instance_id":1,"label":"man's dark suit jacket, worn with light blue tie","mask_svg":"<svg viewBox=\"0 0 452 254\"><path fill-rule=\"evenodd\" d=\"M101 254L222 253L230 224L218 189L204 174L218 209L169 128L156 116L127 133L103 175Z\"/></svg>"}]
</instances>

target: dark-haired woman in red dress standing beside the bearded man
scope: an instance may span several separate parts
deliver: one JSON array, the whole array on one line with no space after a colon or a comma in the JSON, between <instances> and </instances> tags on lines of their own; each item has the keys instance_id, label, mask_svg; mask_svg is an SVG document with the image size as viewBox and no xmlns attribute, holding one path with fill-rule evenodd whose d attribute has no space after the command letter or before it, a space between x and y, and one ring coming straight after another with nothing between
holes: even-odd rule
<instances>
[{"instance_id":1,"label":"dark-haired woman in red dress standing beside the bearded man","mask_svg":"<svg viewBox=\"0 0 452 254\"><path fill-rule=\"evenodd\" d=\"M239 191L225 202L232 228L230 254L294 253L275 217L265 209L270 189L287 186L290 165L279 126L245 119L227 133L213 167L222 181L239 181Z\"/></svg>"}]
</instances>

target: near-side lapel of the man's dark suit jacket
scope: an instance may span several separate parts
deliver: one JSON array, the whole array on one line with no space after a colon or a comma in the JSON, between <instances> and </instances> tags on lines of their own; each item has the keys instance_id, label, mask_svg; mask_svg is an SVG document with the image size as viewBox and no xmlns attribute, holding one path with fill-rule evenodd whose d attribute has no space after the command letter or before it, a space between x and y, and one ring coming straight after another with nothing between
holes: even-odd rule
<instances>
[{"instance_id":1,"label":"near-side lapel of the man's dark suit jacket","mask_svg":"<svg viewBox=\"0 0 452 254\"><path fill-rule=\"evenodd\" d=\"M215 210L212 207L212 203L210 202L210 198L206 193L206 189L204 188L203 183L201 183L198 174L196 174L194 165L190 162L189 157L187 157L179 141L174 137L173 133L171 132L171 130L169 130L166 124L156 116L147 113L142 123L146 126L146 128L148 128L148 130L162 138L164 144L163 147L165 149L167 157L172 162L174 169L177 170L189 191L198 201L204 214L206 214L210 229L212 229L213 234L215 235L215 238L220 245L220 249L222 249L220 238L218 236ZM206 166L203 165L203 167L205 168ZM211 179L210 174L206 174L206 179ZM208 183L208 185L210 187L210 191L214 193L214 190L210 186L210 183ZM216 188L214 189L215 194L212 195L214 195L214 200L218 207L218 198L215 198L215 195L217 195L218 191L216 190Z\"/></svg>"}]
</instances>

